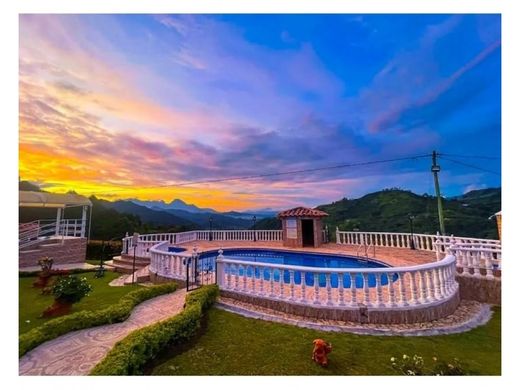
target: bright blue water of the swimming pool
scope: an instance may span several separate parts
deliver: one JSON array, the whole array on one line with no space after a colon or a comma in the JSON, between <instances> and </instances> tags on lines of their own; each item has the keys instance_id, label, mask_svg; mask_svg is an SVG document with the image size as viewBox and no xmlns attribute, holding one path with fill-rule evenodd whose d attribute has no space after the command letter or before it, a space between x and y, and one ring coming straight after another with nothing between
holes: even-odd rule
<instances>
[{"instance_id":1,"label":"bright blue water of the swimming pool","mask_svg":"<svg viewBox=\"0 0 520 390\"><path fill-rule=\"evenodd\" d=\"M199 259L198 269L199 270L213 270L215 266L215 259L217 256L217 252L206 252L203 253ZM301 265L305 267L316 267L316 268L386 268L388 265L384 263L380 263L377 261L359 261L356 258L348 257L348 256L339 256L339 255L322 255L322 254L312 254L306 252L285 252L285 251L271 251L271 250L261 250L261 249L227 249L224 250L224 257L227 259L236 259L236 260L245 260L256 263L270 263L270 264L284 264L284 265ZM226 273L230 272L232 275L236 274L236 268L232 267L231 270L226 269ZM244 269L240 268L238 270L239 275L242 276L244 274ZM268 269L264 269L263 272L259 268L253 270L253 267L249 267L247 269L247 276L253 276L253 272L255 272L255 277L260 278L263 277L264 280L268 281L271 277L274 277L275 282L280 281L280 277L283 277L284 283L290 282L289 271L284 270L280 272L279 270L274 271L274 275L271 275L271 271ZM262 275L261 275L262 274ZM318 274L318 282L321 287L326 286L326 277L325 274ZM302 283L302 280L305 280L306 286L314 285L314 272L294 272L294 283L299 285ZM361 274L353 275L355 278L356 288L363 287L363 276ZM351 277L349 274L343 274L343 287L350 288L351 285ZM392 279L397 280L397 274L392 276ZM338 278L338 275L331 275L331 285L332 287L338 287L338 283L341 283L341 279ZM368 276L368 286L373 287L376 283L376 276L369 274ZM381 284L388 284L388 277L386 275L381 275Z\"/></svg>"}]
</instances>

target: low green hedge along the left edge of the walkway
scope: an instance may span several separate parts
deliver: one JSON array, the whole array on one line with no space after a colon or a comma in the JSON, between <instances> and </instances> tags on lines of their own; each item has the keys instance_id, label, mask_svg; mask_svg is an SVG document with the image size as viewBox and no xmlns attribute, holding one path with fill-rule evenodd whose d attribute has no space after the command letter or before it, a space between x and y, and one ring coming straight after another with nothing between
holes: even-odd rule
<instances>
[{"instance_id":1,"label":"low green hedge along the left edge of the walkway","mask_svg":"<svg viewBox=\"0 0 520 390\"><path fill-rule=\"evenodd\" d=\"M43 325L20 335L18 355L23 356L45 341L55 339L74 330L122 322L130 316L132 309L139 303L159 295L174 292L176 289L176 283L142 288L129 292L118 303L110 305L105 309L82 310L47 321Z\"/></svg>"}]
</instances>

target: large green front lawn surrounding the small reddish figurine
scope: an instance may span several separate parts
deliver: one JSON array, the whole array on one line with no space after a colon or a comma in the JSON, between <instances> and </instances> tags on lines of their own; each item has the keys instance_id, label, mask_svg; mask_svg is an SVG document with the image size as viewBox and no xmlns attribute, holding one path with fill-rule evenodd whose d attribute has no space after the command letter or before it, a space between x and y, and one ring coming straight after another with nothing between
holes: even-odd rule
<instances>
[{"instance_id":1,"label":"large green front lawn surrounding the small reddish figurine","mask_svg":"<svg viewBox=\"0 0 520 390\"><path fill-rule=\"evenodd\" d=\"M468 374L500 375L500 307L491 321L466 333L376 337L320 332L244 318L219 309L190 345L156 361L152 375L391 375L392 356L458 358ZM332 343L328 368L311 360L312 340Z\"/></svg>"}]
</instances>

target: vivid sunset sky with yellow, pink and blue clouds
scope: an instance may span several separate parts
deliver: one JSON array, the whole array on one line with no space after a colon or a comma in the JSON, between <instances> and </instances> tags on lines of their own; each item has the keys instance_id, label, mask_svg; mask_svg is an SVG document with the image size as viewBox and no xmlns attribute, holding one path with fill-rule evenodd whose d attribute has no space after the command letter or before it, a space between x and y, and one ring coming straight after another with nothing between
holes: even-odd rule
<instances>
[{"instance_id":1,"label":"vivid sunset sky with yellow, pink and blue clouds","mask_svg":"<svg viewBox=\"0 0 520 390\"><path fill-rule=\"evenodd\" d=\"M501 186L500 15L21 15L19 100L20 179L52 192L433 194L429 157L214 181L433 150L444 196Z\"/></svg>"}]
</instances>

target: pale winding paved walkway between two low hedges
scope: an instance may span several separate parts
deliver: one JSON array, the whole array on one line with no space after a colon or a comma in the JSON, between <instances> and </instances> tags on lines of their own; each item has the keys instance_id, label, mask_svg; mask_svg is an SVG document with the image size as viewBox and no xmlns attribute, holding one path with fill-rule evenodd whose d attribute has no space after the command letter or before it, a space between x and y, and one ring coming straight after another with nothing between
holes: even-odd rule
<instances>
[{"instance_id":1,"label":"pale winding paved walkway between two low hedges","mask_svg":"<svg viewBox=\"0 0 520 390\"><path fill-rule=\"evenodd\" d=\"M19 374L87 375L130 332L180 312L185 295L185 289L161 295L136 306L125 322L83 329L47 341L22 356Z\"/></svg>"}]
</instances>

